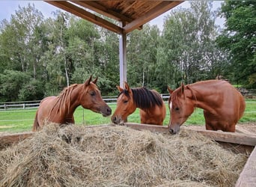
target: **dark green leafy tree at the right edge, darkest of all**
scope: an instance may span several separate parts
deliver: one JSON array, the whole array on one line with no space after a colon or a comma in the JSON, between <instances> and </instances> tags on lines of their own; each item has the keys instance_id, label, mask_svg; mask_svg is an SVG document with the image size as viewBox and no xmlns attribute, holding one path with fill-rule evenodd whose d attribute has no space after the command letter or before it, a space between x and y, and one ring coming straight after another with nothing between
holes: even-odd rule
<instances>
[{"instance_id":1,"label":"dark green leafy tree at the right edge, darkest of all","mask_svg":"<svg viewBox=\"0 0 256 187\"><path fill-rule=\"evenodd\" d=\"M256 1L225 1L221 13L225 29L216 42L230 53L229 77L256 88Z\"/></svg>"}]
</instances>

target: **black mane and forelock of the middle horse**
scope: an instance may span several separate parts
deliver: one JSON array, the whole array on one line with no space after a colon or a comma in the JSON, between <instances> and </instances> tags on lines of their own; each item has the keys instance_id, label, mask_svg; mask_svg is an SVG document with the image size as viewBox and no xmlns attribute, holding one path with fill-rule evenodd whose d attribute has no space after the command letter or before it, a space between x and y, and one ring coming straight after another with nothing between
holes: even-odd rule
<instances>
[{"instance_id":1,"label":"black mane and forelock of the middle horse","mask_svg":"<svg viewBox=\"0 0 256 187\"><path fill-rule=\"evenodd\" d=\"M132 88L133 101L138 108L145 109L155 105L162 106L162 97L156 91L150 91L147 88ZM126 93L127 92L127 93ZM124 90L128 95L128 91Z\"/></svg>"}]
</instances>

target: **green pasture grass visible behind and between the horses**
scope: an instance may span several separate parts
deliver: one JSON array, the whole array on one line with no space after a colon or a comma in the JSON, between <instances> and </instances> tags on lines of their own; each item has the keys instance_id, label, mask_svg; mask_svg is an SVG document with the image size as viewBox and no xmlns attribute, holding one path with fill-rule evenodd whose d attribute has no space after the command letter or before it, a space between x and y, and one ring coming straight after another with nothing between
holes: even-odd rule
<instances>
[{"instance_id":1,"label":"green pasture grass visible behind and between the horses","mask_svg":"<svg viewBox=\"0 0 256 187\"><path fill-rule=\"evenodd\" d=\"M166 104L167 105L167 104ZM115 111L115 104L109 105L112 113ZM0 132L28 132L31 131L35 109L0 111ZM111 117L103 117L101 114L83 109L81 106L76 108L74 113L76 125L99 125L111 123ZM168 125L170 113L167 107L167 114L164 125ZM140 123L138 108L129 115L129 122ZM246 99L246 112L239 123L256 123L256 99ZM204 125L204 114L201 108L196 108L194 113L186 120L186 125L197 124Z\"/></svg>"}]
</instances>

